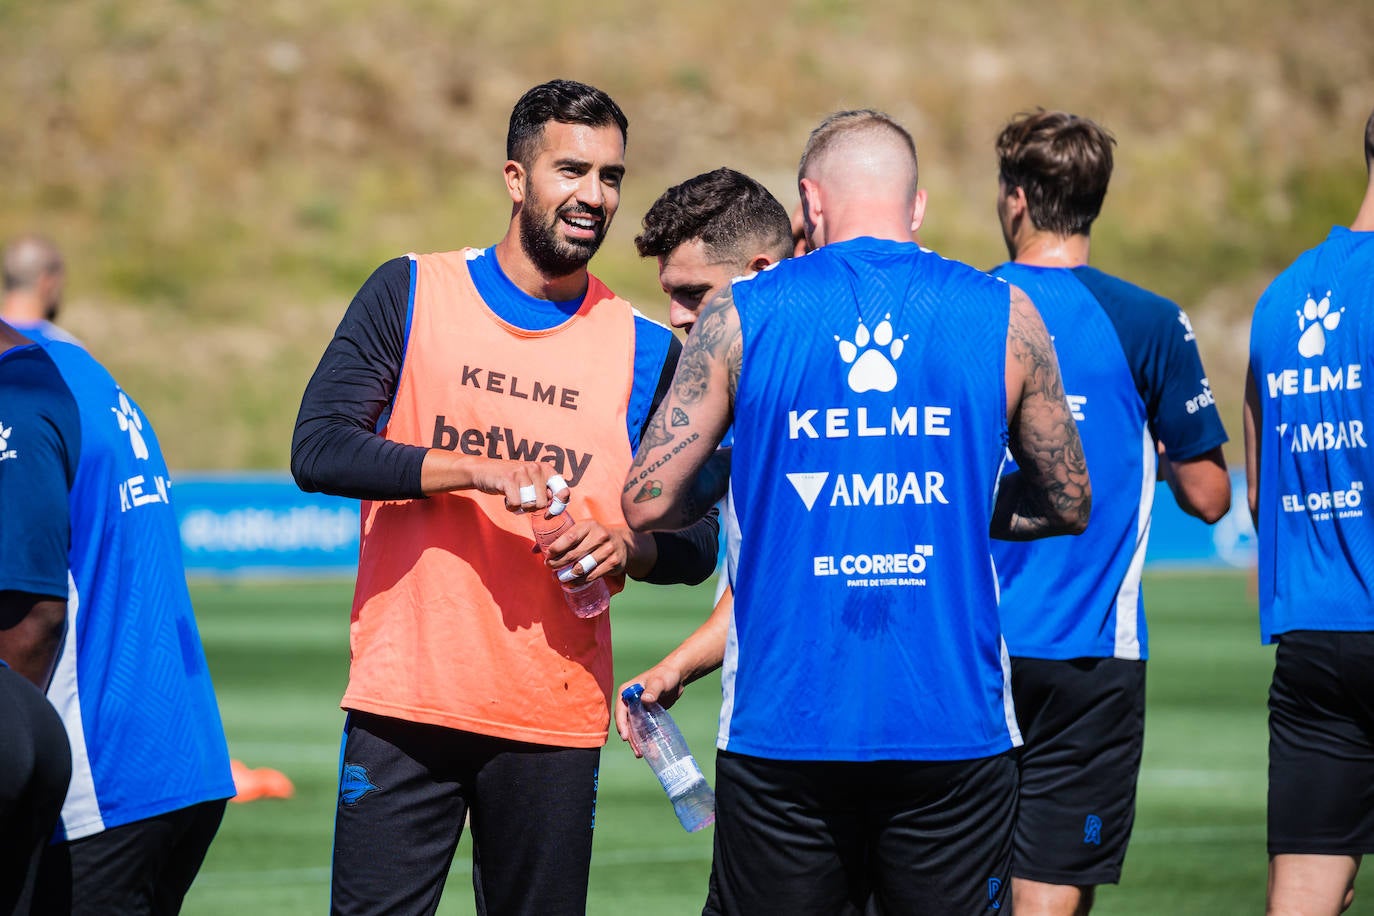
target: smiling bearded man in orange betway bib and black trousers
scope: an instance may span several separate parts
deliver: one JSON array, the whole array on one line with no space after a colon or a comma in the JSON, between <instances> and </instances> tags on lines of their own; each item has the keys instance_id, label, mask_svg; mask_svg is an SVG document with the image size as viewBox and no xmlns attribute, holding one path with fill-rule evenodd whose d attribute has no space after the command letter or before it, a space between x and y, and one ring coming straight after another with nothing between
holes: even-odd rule
<instances>
[{"instance_id":1,"label":"smiling bearded man in orange betway bib and black trousers","mask_svg":"<svg viewBox=\"0 0 1374 916\"><path fill-rule=\"evenodd\" d=\"M506 235L382 265L305 390L295 479L364 500L335 913L434 912L464 816L480 912L581 913L610 625L574 617L551 567L613 592L627 574L714 570L714 520L647 536L620 512L682 349L587 271L620 203L625 135L599 89L526 92ZM545 562L519 512L567 486L578 520Z\"/></svg>"}]
</instances>

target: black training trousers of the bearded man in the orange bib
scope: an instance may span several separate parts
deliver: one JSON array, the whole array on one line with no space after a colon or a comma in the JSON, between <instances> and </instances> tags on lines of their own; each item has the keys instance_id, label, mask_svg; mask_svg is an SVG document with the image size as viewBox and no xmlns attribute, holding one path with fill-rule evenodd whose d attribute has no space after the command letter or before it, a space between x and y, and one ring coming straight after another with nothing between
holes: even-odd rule
<instances>
[{"instance_id":1,"label":"black training trousers of the bearded man in the orange bib","mask_svg":"<svg viewBox=\"0 0 1374 916\"><path fill-rule=\"evenodd\" d=\"M349 713L334 913L433 913L467 817L478 913L577 915L599 747L548 747Z\"/></svg>"}]
</instances>

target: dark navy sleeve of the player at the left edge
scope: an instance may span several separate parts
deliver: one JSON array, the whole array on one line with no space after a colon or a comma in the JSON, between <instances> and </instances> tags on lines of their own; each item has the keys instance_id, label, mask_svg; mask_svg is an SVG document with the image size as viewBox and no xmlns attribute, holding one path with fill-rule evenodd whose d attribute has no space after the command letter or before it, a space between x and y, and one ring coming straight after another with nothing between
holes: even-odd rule
<instances>
[{"instance_id":1,"label":"dark navy sleeve of the player at the left edge","mask_svg":"<svg viewBox=\"0 0 1374 916\"><path fill-rule=\"evenodd\" d=\"M77 402L36 343L0 353L0 591L67 597Z\"/></svg>"}]
</instances>

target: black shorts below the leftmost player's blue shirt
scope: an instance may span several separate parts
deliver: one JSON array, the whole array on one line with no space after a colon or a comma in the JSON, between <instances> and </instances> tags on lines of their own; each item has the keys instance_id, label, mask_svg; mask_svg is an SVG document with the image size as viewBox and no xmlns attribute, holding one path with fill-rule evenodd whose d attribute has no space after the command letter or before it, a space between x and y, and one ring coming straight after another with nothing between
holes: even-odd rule
<instances>
[{"instance_id":1,"label":"black shorts below the leftmost player's blue shirt","mask_svg":"<svg viewBox=\"0 0 1374 916\"><path fill-rule=\"evenodd\" d=\"M154 814L43 850L33 912L172 916L224 820L224 799Z\"/></svg>"}]
</instances>

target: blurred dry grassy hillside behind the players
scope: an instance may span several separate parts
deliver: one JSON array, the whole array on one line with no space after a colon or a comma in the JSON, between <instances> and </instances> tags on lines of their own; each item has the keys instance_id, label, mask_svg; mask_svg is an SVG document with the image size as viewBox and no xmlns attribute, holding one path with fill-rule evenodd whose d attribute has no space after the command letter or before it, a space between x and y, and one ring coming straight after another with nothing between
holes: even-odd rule
<instances>
[{"instance_id":1,"label":"blurred dry grassy hillside behind the players","mask_svg":"<svg viewBox=\"0 0 1374 916\"><path fill-rule=\"evenodd\" d=\"M0 233L62 243L63 324L173 467L279 468L371 269L500 236L506 119L536 82L592 82L631 118L594 269L651 314L631 239L657 194L724 163L791 206L840 107L912 129L922 240L991 266L992 140L1061 107L1120 141L1095 262L1189 309L1239 439L1250 305L1364 187L1371 36L1367 0L0 0Z\"/></svg>"}]
</instances>

